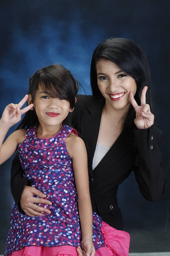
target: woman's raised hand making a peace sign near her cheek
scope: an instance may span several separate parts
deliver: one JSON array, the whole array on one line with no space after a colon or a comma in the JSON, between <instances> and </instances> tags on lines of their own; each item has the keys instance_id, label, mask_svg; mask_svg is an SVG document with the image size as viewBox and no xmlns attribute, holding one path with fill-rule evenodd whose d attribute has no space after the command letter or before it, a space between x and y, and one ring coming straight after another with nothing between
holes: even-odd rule
<instances>
[{"instance_id":1,"label":"woman's raised hand making a peace sign near her cheek","mask_svg":"<svg viewBox=\"0 0 170 256\"><path fill-rule=\"evenodd\" d=\"M141 106L138 106L137 102L133 97L133 92L130 91L129 97L132 106L136 112L136 118L134 123L138 129L146 129L154 124L154 115L150 111L150 106L146 104L146 91L148 87L145 86L141 94Z\"/></svg>"}]
</instances>

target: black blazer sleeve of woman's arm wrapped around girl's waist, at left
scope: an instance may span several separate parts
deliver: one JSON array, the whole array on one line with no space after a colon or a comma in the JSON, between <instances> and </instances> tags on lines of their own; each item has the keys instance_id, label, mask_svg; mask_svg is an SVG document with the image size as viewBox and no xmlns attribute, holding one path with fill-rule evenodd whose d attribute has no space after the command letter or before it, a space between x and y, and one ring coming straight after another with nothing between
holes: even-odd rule
<instances>
[{"instance_id":1,"label":"black blazer sleeve of woman's arm wrapped around girl's waist, at left","mask_svg":"<svg viewBox=\"0 0 170 256\"><path fill-rule=\"evenodd\" d=\"M16 153L14 159L12 160L12 166L11 166L11 193L14 197L14 200L16 202L16 205L18 206L18 209L22 211L20 207L20 198L24 189L25 185L32 186L32 182L30 179L26 179L23 177L23 169L21 167L18 153Z\"/></svg>"}]
</instances>

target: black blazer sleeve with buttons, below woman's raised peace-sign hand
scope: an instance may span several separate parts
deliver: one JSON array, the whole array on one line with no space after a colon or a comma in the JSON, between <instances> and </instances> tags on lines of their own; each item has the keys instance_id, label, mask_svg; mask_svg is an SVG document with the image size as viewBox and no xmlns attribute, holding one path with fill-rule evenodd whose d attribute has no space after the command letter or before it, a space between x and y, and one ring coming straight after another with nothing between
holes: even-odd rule
<instances>
[{"instance_id":1,"label":"black blazer sleeve with buttons, below woman's raised peace-sign hand","mask_svg":"<svg viewBox=\"0 0 170 256\"><path fill-rule=\"evenodd\" d=\"M134 129L133 132L138 147L135 179L142 195L149 201L156 201L167 188L160 152L162 131L154 124L148 129Z\"/></svg>"}]
</instances>

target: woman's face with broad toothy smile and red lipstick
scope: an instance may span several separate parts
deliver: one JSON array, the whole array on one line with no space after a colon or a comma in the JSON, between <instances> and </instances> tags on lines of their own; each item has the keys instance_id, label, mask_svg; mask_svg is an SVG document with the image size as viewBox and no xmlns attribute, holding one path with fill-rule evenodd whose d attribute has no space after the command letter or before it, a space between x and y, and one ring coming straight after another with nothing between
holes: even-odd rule
<instances>
[{"instance_id":1,"label":"woman's face with broad toothy smile and red lipstick","mask_svg":"<svg viewBox=\"0 0 170 256\"><path fill-rule=\"evenodd\" d=\"M98 87L106 104L109 103L116 110L129 108L129 92L135 95L137 90L135 79L113 62L102 58L96 63L96 70Z\"/></svg>"}]
</instances>

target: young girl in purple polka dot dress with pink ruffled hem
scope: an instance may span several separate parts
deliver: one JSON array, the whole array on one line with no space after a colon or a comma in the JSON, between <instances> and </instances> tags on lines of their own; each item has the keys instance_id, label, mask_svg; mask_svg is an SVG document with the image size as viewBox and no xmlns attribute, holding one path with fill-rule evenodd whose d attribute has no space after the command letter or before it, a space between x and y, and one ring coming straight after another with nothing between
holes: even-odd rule
<instances>
[{"instance_id":1,"label":"young girl in purple polka dot dress with pink ruffled hem","mask_svg":"<svg viewBox=\"0 0 170 256\"><path fill-rule=\"evenodd\" d=\"M0 164L17 149L24 177L47 195L49 210L28 217L13 203L5 256L128 255L129 234L92 213L86 147L70 127L77 92L71 73L51 65L36 71L28 95L2 114ZM26 101L28 106L21 109ZM3 143L24 113L20 129Z\"/></svg>"}]
</instances>

